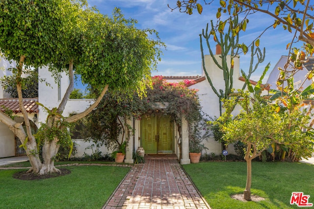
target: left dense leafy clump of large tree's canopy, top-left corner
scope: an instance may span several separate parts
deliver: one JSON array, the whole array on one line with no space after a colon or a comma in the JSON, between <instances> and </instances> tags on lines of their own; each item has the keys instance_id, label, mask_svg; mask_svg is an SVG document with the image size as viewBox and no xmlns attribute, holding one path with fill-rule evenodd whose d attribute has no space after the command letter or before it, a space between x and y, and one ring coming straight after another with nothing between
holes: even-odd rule
<instances>
[{"instance_id":1,"label":"left dense leafy clump of large tree's canopy, top-left corner","mask_svg":"<svg viewBox=\"0 0 314 209\"><path fill-rule=\"evenodd\" d=\"M27 58L26 66L47 65L55 53L62 28L65 0L0 1L0 48L8 60Z\"/></svg>"}]
</instances>

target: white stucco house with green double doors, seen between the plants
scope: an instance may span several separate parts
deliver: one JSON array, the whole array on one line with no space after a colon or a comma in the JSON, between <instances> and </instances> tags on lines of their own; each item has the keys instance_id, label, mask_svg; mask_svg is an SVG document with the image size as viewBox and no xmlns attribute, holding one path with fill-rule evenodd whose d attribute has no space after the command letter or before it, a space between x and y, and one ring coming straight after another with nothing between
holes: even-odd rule
<instances>
[{"instance_id":1,"label":"white stucco house with green double doors, seen between the plants","mask_svg":"<svg viewBox=\"0 0 314 209\"><path fill-rule=\"evenodd\" d=\"M216 52L215 58L217 60L221 60L219 58L220 54ZM230 57L229 57L230 59ZM209 55L205 56L205 64L206 69L208 69L209 76L213 79L213 85L216 89L224 89L224 80L223 80L223 72L220 69L217 69L216 65L214 64L212 58ZM7 68L7 67L5 67ZM46 83L39 83L39 92L38 92L38 102L43 104L45 107L52 109L53 107L57 107L60 103L64 93L66 92L66 89L69 85L69 79L66 73L61 73L59 77L59 83L60 85L56 84L54 81L54 78L52 77L51 73L49 72L48 68L42 68L39 71L39 78L40 79L46 79L46 83L49 83L50 85L46 85ZM243 78L241 78L239 72L239 59L235 58L235 64L234 64L234 85L233 87L235 89L241 89L244 82ZM200 76L183 76L183 77L165 77L170 82L179 82L184 79L193 80L194 84L191 85L189 88L198 89L198 94L201 102L201 106L203 107L203 111L210 116L211 118L219 117L220 111L219 111L219 98L217 95L212 91L209 82L206 79L204 71L202 72L202 75ZM253 83L253 81L251 81ZM70 99L66 107L63 111L63 116L70 116L72 114L78 114L83 112L87 107L89 107L93 103L93 99ZM158 108L164 108L162 106L159 106ZM36 110L34 112L30 112L29 114L36 113L37 119L35 124L38 126L41 122L44 122L46 120L47 114L43 107L37 106ZM30 116L30 118L32 118ZM179 132L177 129L177 126L172 122L169 117L165 116L162 118L152 117L149 121L143 121L143 120L137 120L135 118L132 118L130 121L128 121L128 124L135 129L134 135L131 136L131 140L129 141L128 148L127 148L127 154L125 163L133 163L132 159L132 152L137 149L137 147L143 146L144 149L146 149L146 153L151 154L176 154L179 158L181 155L181 163L187 164L190 163L190 159L188 156L188 133L187 133L187 121L182 118L182 149L180 153L180 149L178 146L177 139L179 138ZM163 126L157 126L157 124L162 124ZM3 125L3 124L2 124ZM148 129L150 127L150 129ZM162 128L163 127L163 128ZM3 127L5 129L5 127ZM162 133L160 136L167 136L165 139L160 140L163 141L166 145L163 146L165 148L158 150L158 143L155 142L150 143L148 141L148 138L154 138L154 133L151 133L148 135L147 133L155 130L156 133ZM2 131L2 130L0 130ZM8 131L9 132L9 131ZM76 156L82 156L84 153L91 154L90 149L86 149L86 147L92 145L92 143L85 142L83 139L79 139L79 136L76 136L78 139L73 139L76 143L77 148L77 154ZM7 139L0 138L0 147L7 146L8 140L13 140L14 136L11 133L10 137ZM208 153L215 153L220 154L221 153L221 144L218 143L213 139L213 136L210 136L208 141L204 141L205 146L209 149L207 150ZM229 147L229 153L234 153L234 150L232 147ZM100 150L103 154L110 153L110 150L107 150L105 147L102 147ZM5 154L0 157L8 157L12 156L14 153Z\"/></svg>"}]
</instances>

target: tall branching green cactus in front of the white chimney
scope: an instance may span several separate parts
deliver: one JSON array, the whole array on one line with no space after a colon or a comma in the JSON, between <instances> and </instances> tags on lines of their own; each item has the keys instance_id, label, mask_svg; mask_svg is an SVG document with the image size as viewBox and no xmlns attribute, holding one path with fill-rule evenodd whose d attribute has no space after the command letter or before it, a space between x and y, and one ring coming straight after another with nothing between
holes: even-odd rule
<instances>
[{"instance_id":1,"label":"tall branching green cactus in front of the white chimney","mask_svg":"<svg viewBox=\"0 0 314 209\"><path fill-rule=\"evenodd\" d=\"M211 30L209 31L209 23L207 24L206 30L203 29L202 34L200 34L200 44L201 44L201 53L202 53L202 65L203 65L203 69L205 72L205 75L207 77L207 80L210 84L210 87L212 89L212 91L218 96L219 98L219 112L220 112L220 116L222 114L222 104L221 104L221 99L227 99L229 98L230 94L231 94L231 90L233 89L233 74L234 74L234 58L238 57L239 54L239 49L242 48L242 51L244 53L247 52L247 46L242 44L239 45L239 33L235 32L237 30L239 30L238 28L238 17L235 16L234 18L230 18L229 20L227 20L225 23L229 24L229 28L227 32L224 32L224 26L219 26L218 27L218 33L219 33L219 38L216 35L216 29L211 21ZM225 23L221 23L220 25L225 25ZM246 24L245 24L246 25ZM243 29L243 28L242 28ZM212 52L210 45L209 45L209 38L210 35L213 35L213 39L214 41L221 46L221 63L219 63L217 61L217 59L214 56L214 53ZM225 81L225 89L219 89L217 91L217 89L214 87L213 83L212 83L212 79L209 77L209 73L208 70L210 69L206 69L205 66L205 59L204 59L204 49L203 49L203 38L206 41L206 45L208 46L209 49L209 54L212 57L213 62L215 63L215 65L221 69L223 71L223 78ZM264 58L265 58L265 48L263 49L263 52L261 51L261 49L259 47L257 47L254 50L254 44L251 44L251 63L250 63L250 68L249 68L249 72L247 74L247 78L250 78L251 74L258 68L258 65L260 63L263 62ZM227 57L228 54L230 53L230 63L228 63L227 61ZM258 61L254 65L254 56L257 55ZM245 89L246 84L243 84L242 89Z\"/></svg>"}]
</instances>

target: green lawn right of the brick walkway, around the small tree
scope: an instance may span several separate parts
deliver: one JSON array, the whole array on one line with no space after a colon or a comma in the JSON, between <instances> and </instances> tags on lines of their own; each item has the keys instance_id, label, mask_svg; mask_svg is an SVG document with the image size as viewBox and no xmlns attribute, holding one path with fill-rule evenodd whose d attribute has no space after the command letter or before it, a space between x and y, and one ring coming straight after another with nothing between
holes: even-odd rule
<instances>
[{"instance_id":1,"label":"green lawn right of the brick walkway, around the small tree","mask_svg":"<svg viewBox=\"0 0 314 209\"><path fill-rule=\"evenodd\" d=\"M252 162L251 192L265 198L260 202L231 198L245 188L245 162L206 162L183 168L212 209L298 208L290 205L292 192L310 195L309 203L314 204L314 165Z\"/></svg>"}]
</instances>

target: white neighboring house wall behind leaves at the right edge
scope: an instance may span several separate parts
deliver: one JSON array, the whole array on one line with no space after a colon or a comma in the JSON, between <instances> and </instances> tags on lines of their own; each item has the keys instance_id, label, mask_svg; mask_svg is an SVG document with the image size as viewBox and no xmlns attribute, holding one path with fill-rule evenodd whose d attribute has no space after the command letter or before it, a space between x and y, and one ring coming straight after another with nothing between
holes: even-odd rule
<instances>
[{"instance_id":1,"label":"white neighboring house wall behind leaves at the right edge","mask_svg":"<svg viewBox=\"0 0 314 209\"><path fill-rule=\"evenodd\" d=\"M280 73L280 70L278 70L278 68L284 69L284 66L287 63L287 60L288 60L288 56L281 56L281 58L276 63L273 70L271 70L271 72L269 73L266 83L270 84L271 89L277 89L276 83L277 83L277 80L279 78L279 73ZM287 70L292 70L292 69L293 69L293 63L290 63ZM293 76L293 84L295 88L299 88L301 86L302 82L306 78L307 73L309 72L308 69L311 69L310 66L309 68L303 67L303 70L299 70L297 73L295 73L295 75ZM302 88L305 89L306 87L311 85L311 83L312 83L312 80L307 79L302 85ZM284 86L287 86L287 82L284 83Z\"/></svg>"}]
</instances>

